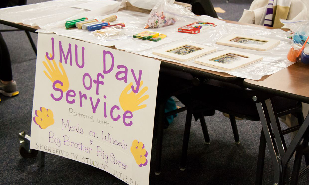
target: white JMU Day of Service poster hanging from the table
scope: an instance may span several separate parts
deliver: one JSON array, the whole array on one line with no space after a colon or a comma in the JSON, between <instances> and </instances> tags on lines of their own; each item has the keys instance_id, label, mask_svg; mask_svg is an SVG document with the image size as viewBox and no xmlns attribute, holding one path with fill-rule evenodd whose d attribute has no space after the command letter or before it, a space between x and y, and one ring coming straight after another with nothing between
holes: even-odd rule
<instances>
[{"instance_id":1,"label":"white JMU Day of Service poster hanging from the table","mask_svg":"<svg viewBox=\"0 0 309 185\"><path fill-rule=\"evenodd\" d=\"M32 149L149 183L160 62L39 34Z\"/></svg>"}]
</instances>

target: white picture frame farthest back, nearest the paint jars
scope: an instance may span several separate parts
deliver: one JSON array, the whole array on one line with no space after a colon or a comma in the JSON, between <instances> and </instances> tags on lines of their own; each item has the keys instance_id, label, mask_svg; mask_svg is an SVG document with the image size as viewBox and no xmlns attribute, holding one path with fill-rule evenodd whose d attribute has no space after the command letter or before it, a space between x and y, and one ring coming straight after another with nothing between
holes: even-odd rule
<instances>
[{"instance_id":1,"label":"white picture frame farthest back, nearest the paint jars","mask_svg":"<svg viewBox=\"0 0 309 185\"><path fill-rule=\"evenodd\" d=\"M240 43L239 41L243 42ZM219 39L216 42L216 44L258 50L258 51L266 51L279 45L280 40L269 39L264 37L232 34L222 39Z\"/></svg>"}]
</instances>

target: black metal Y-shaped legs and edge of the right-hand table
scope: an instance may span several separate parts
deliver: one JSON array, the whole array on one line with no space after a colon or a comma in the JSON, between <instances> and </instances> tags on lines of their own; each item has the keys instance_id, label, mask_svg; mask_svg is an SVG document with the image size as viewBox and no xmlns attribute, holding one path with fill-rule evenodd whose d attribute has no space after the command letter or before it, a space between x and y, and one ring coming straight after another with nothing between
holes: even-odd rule
<instances>
[{"instance_id":1,"label":"black metal Y-shaped legs and edge of the right-hand table","mask_svg":"<svg viewBox=\"0 0 309 185\"><path fill-rule=\"evenodd\" d=\"M271 88L262 87L255 84L243 82L244 87L254 89L257 91L271 93L276 96L286 97L297 101L309 103L309 97L304 97L288 92L283 92ZM257 97L258 99L258 97ZM288 184L290 181L290 167L289 161L293 156L298 144L302 141L303 135L309 127L309 116L307 115L303 123L300 123L297 134L291 141L290 145L286 147L284 139L281 137L282 130L274 110L271 99L266 99L256 103L256 107L260 116L262 129L267 142L269 154L274 167L273 183L276 185ZM267 122L270 120L270 123ZM300 172L303 174L308 171L308 168Z\"/></svg>"}]
</instances>

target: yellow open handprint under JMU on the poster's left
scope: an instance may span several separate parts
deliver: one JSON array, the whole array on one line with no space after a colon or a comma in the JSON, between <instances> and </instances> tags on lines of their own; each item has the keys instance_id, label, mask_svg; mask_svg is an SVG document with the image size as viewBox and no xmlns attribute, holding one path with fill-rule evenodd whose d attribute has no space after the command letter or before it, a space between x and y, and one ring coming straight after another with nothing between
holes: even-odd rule
<instances>
[{"instance_id":1,"label":"yellow open handprint under JMU on the poster's left","mask_svg":"<svg viewBox=\"0 0 309 185\"><path fill-rule=\"evenodd\" d=\"M62 71L62 74L61 74L61 72L60 72L60 70L59 70L54 59L52 60L53 64L50 62L50 60L47 58L46 55L45 55L45 59L46 59L47 63L49 64L49 66L46 64L45 61L43 61L43 65L45 66L45 68L47 69L49 74L46 71L43 71L44 74L52 82L54 82L56 80L61 81L63 83L62 86L59 83L57 83L55 86L56 86L56 88L60 88L63 92L66 92L69 89L69 79L68 79L68 76L66 75L66 71L64 70L62 64L59 62L59 67Z\"/></svg>"}]
</instances>

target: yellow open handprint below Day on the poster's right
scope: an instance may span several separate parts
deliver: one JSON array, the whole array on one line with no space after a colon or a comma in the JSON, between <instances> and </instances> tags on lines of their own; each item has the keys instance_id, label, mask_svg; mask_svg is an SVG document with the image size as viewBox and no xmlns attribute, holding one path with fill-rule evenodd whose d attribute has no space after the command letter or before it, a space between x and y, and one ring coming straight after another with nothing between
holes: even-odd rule
<instances>
[{"instance_id":1,"label":"yellow open handprint below Day on the poster's right","mask_svg":"<svg viewBox=\"0 0 309 185\"><path fill-rule=\"evenodd\" d=\"M141 89L142 84L143 84L143 81L141 81L139 89ZM140 90L138 93L134 93L131 90L131 92L128 94L129 90L131 89L131 85L133 85L132 82L129 85L127 85L125 89L123 89L119 97L120 106L123 109L123 111L129 110L133 112L139 109L143 109L146 107L146 104L143 104L143 105L139 105L139 104L141 104L143 101L149 98L148 94L141 97L148 90L148 87L142 88L142 90Z\"/></svg>"}]
</instances>

